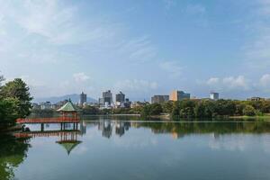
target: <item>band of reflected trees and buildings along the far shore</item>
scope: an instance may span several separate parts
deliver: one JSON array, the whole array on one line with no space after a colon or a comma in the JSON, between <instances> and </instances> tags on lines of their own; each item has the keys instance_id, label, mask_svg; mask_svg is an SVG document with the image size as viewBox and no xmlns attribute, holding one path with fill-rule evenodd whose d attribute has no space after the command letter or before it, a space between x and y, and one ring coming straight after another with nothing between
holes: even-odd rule
<instances>
[{"instance_id":1,"label":"band of reflected trees and buildings along the far shore","mask_svg":"<svg viewBox=\"0 0 270 180\"><path fill-rule=\"evenodd\" d=\"M122 137L130 129L148 129L154 134L171 134L173 139L183 138L188 134L211 133L215 139L230 133L268 133L269 122L148 122L148 121L81 121L79 127L66 123L58 129L57 124L46 124L39 130L39 125L28 125L29 131L14 133L17 138L36 138L58 136L60 140L75 140L77 135L84 136L87 130L97 127L104 138Z\"/></svg>"}]
</instances>

